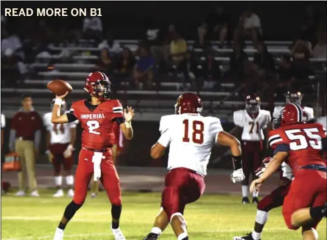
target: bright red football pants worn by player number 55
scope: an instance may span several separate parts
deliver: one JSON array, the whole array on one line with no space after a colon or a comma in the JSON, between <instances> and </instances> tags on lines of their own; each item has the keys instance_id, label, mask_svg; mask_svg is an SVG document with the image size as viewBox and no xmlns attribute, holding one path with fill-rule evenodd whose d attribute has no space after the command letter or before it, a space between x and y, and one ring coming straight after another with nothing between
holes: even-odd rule
<instances>
[{"instance_id":1,"label":"bright red football pants worn by player number 55","mask_svg":"<svg viewBox=\"0 0 327 240\"><path fill-rule=\"evenodd\" d=\"M289 229L298 229L298 227L292 225L292 214L294 211L325 204L327 198L326 185L326 173L324 172L310 169L300 169L296 172L289 193L282 206L282 215ZM303 226L303 229L316 228L320 221L321 219Z\"/></svg>"}]
</instances>

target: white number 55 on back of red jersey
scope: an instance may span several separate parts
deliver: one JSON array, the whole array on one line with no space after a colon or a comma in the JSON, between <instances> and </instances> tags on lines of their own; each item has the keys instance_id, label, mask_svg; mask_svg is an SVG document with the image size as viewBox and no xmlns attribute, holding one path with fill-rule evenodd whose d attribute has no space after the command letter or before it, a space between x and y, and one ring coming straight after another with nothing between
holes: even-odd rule
<instances>
[{"instance_id":1,"label":"white number 55 on back of red jersey","mask_svg":"<svg viewBox=\"0 0 327 240\"><path fill-rule=\"evenodd\" d=\"M303 131L305 136L301 134ZM316 127L303 130L292 129L285 131L287 138L293 141L289 143L289 149L293 151L303 150L310 145L313 149L321 150L321 136L317 133L319 133L319 130ZM308 140L307 138L310 138L311 140Z\"/></svg>"}]
</instances>

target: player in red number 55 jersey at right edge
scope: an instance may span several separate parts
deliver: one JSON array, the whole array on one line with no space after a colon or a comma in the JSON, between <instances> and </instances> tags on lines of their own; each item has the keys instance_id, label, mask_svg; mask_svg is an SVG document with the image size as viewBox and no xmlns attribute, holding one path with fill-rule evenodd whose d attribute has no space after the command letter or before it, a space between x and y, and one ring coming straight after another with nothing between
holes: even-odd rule
<instances>
[{"instance_id":1,"label":"player in red number 55 jersey at right edge","mask_svg":"<svg viewBox=\"0 0 327 240\"><path fill-rule=\"evenodd\" d=\"M298 104L287 104L282 110L280 128L269 133L269 145L275 150L273 159L255 179L250 191L275 173L282 161L289 163L294 180L285 197L282 214L287 227L302 227L303 240L317 239L315 230L321 218L327 216L327 168L321 150L326 151L326 134L318 123L305 124L306 115Z\"/></svg>"}]
</instances>

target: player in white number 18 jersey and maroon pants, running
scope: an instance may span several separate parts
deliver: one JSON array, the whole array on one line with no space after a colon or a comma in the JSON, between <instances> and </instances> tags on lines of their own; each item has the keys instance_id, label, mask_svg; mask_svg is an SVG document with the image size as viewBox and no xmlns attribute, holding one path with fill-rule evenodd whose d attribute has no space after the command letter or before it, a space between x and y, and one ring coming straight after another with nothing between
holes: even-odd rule
<instances>
[{"instance_id":1,"label":"player in white number 18 jersey and maroon pants, running","mask_svg":"<svg viewBox=\"0 0 327 240\"><path fill-rule=\"evenodd\" d=\"M178 240L188 240L184 208L195 202L205 191L204 177L214 143L229 146L234 172L232 182L244 179L241 167L241 147L237 138L223 131L218 118L203 117L202 101L198 95L184 93L177 99L175 115L161 118L161 137L151 148L151 157L157 159L170 145L169 172L161 195L161 211L145 240L157 240L167 225L173 227Z\"/></svg>"}]
</instances>

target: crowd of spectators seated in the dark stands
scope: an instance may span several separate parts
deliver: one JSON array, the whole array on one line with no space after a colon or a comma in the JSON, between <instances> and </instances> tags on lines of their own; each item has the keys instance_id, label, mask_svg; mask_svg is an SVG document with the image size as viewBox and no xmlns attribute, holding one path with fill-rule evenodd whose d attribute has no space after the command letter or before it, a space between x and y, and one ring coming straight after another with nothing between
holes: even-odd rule
<instances>
[{"instance_id":1,"label":"crowd of spectators seated in the dark stands","mask_svg":"<svg viewBox=\"0 0 327 240\"><path fill-rule=\"evenodd\" d=\"M10 32L13 29L6 27L6 21L6 18L1 17L1 74L6 75L2 79L8 83L29 78L29 64L35 62L36 56L54 54L49 49L50 45L72 47L81 45L81 39L86 40L86 46L100 49L97 67L114 76L116 82L113 84L129 81L129 86L136 89L152 89L158 74L176 76L183 89L190 86L214 88L219 86L221 79L230 82L255 79L251 88L254 86L257 89L267 82L311 77L310 58L326 58L326 19L314 13L311 6L306 9L298 36L289 46L290 54L279 56L278 62L264 43L265 29L262 29L260 16L251 9L244 10L234 27L230 15L220 6L205 17L198 26L195 44L205 56L205 60L201 61L189 50L186 40L174 24L160 26L153 19L145 23L147 30L143 33L138 49L121 46L113 32L104 30L99 17L86 17L81 30L65 29L65 26L51 29L44 19L26 22L19 37ZM213 61L216 55L210 44L212 40L218 41L216 47L219 49L233 49L229 55L230 67L227 72L222 72L219 64ZM254 49L257 49L253 61L244 51L246 40L250 40ZM63 61L69 61L70 54L69 51L62 51L58 56L62 56ZM199 79L211 81L202 82Z\"/></svg>"}]
</instances>

